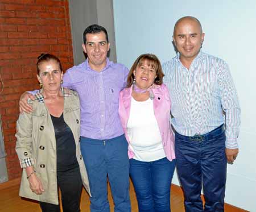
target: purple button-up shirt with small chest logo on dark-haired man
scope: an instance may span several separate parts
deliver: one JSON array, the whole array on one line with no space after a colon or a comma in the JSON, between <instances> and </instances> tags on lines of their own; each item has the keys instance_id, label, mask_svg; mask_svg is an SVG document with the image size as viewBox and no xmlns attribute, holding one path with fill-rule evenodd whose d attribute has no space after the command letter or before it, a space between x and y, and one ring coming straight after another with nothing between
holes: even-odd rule
<instances>
[{"instance_id":1,"label":"purple button-up shirt with small chest logo on dark-haired man","mask_svg":"<svg viewBox=\"0 0 256 212\"><path fill-rule=\"evenodd\" d=\"M63 86L79 93L81 136L103 140L123 134L118 101L128 73L124 65L106 59L101 72L91 69L86 60L64 74Z\"/></svg>"}]
</instances>

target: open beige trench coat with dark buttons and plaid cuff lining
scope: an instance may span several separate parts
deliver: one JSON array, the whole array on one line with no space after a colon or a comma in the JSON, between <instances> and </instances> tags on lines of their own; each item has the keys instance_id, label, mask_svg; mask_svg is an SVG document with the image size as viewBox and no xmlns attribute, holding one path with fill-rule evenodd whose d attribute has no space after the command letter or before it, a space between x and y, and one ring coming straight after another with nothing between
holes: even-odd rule
<instances>
[{"instance_id":1,"label":"open beige trench coat with dark buttons and plaid cuff lining","mask_svg":"<svg viewBox=\"0 0 256 212\"><path fill-rule=\"evenodd\" d=\"M82 184L90 195L88 175L80 150L79 97L72 90L64 89L64 93L68 93L68 95L64 95L64 120L73 132ZM37 100L30 100L29 103L33 107L33 112L19 115L15 134L16 152L23 168L19 196L57 205L59 200L57 195L56 139L51 116L44 103ZM26 168L24 160L28 158L31 158L36 176L42 181L45 191L41 195L33 193L30 189L26 169L24 169Z\"/></svg>"}]
</instances>

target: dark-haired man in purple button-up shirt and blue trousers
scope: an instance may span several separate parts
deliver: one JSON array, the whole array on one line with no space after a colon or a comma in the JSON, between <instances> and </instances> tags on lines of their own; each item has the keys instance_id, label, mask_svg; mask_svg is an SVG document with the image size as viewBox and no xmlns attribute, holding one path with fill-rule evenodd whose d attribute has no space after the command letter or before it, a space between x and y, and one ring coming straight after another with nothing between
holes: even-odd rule
<instances>
[{"instance_id":1,"label":"dark-haired man in purple button-up shirt and blue trousers","mask_svg":"<svg viewBox=\"0 0 256 212\"><path fill-rule=\"evenodd\" d=\"M80 97L80 146L89 177L90 211L109 212L107 176L115 211L131 211L129 197L129 159L127 141L118 116L119 92L125 87L129 70L109 61L108 33L93 24L84 31L82 48L88 58L68 69L63 86L76 90ZM30 94L20 100L22 111Z\"/></svg>"}]
</instances>

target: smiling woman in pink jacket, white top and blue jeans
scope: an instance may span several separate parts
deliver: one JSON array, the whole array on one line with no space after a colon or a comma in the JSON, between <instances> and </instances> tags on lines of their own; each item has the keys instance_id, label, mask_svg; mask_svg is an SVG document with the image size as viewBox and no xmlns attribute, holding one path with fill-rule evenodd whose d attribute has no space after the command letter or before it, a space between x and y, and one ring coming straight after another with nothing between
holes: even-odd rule
<instances>
[{"instance_id":1,"label":"smiling woman in pink jacket, white top and blue jeans","mask_svg":"<svg viewBox=\"0 0 256 212\"><path fill-rule=\"evenodd\" d=\"M171 100L155 55L138 57L119 96L119 116L129 143L130 176L139 211L171 211L175 168Z\"/></svg>"}]
</instances>

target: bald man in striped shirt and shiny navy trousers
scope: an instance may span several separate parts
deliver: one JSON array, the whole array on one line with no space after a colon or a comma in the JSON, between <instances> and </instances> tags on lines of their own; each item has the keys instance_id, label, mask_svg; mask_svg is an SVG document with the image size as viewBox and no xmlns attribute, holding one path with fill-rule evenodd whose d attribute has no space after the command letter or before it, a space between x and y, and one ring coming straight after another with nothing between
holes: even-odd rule
<instances>
[{"instance_id":1,"label":"bald man in striped shirt and shiny navy trousers","mask_svg":"<svg viewBox=\"0 0 256 212\"><path fill-rule=\"evenodd\" d=\"M241 110L236 88L225 61L200 50L204 33L199 20L177 20L173 41L177 56L163 70L185 210L224 211L227 161L233 163L238 154Z\"/></svg>"}]
</instances>

